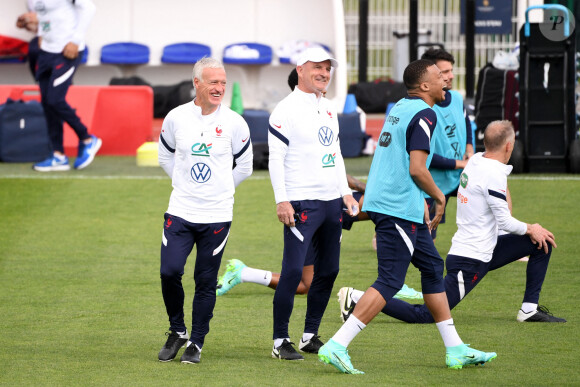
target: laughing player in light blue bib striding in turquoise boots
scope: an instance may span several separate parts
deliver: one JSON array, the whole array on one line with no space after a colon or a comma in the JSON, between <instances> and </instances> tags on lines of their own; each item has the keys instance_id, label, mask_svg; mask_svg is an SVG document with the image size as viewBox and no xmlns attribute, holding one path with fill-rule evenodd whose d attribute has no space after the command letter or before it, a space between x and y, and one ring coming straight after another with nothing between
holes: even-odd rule
<instances>
[{"instance_id":1,"label":"laughing player in light blue bib striding in turquoise boots","mask_svg":"<svg viewBox=\"0 0 580 387\"><path fill-rule=\"evenodd\" d=\"M352 366L346 347L401 289L410 263L421 271L423 298L446 347L447 366L458 369L497 356L469 348L457 334L445 295L443 259L430 234L445 206L445 196L427 169L437 123L431 107L445 98L445 78L433 62L418 60L407 66L403 80L409 98L399 101L385 120L363 204L377 232L378 278L318 352L321 361L348 374L362 372ZM423 192L435 199L431 222L425 216Z\"/></svg>"}]
</instances>

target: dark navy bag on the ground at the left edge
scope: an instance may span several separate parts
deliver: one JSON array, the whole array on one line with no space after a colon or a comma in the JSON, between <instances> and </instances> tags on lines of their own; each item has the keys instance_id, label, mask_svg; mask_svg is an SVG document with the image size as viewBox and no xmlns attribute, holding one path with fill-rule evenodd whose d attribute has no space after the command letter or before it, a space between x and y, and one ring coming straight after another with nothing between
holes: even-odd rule
<instances>
[{"instance_id":1,"label":"dark navy bag on the ground at the left edge","mask_svg":"<svg viewBox=\"0 0 580 387\"><path fill-rule=\"evenodd\" d=\"M0 161L42 161L52 153L42 105L8 99L0 105Z\"/></svg>"}]
</instances>

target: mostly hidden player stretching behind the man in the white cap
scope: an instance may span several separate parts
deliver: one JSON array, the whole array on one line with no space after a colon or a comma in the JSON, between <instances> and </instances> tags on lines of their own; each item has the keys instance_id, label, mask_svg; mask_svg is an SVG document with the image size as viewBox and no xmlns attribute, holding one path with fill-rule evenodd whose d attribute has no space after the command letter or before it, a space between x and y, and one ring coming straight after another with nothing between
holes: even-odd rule
<instances>
[{"instance_id":1,"label":"mostly hidden player stretching behind the man in the white cap","mask_svg":"<svg viewBox=\"0 0 580 387\"><path fill-rule=\"evenodd\" d=\"M362 181L346 175L348 186L353 191L353 197L358 201L359 208L362 208L364 201L364 192L366 184ZM348 215L346 208L342 211L342 229L350 230L354 222L360 220L368 220L369 217L366 212L359 212L356 216ZM307 294L310 289L310 284L312 283L312 277L314 275L314 255L313 249L309 249L304 261L304 269L302 270L302 279L300 284L298 284L298 289L296 289L296 294ZM278 282L280 281L280 274L273 273L267 270L255 269L248 267L244 262L239 259L231 259L228 261L225 273L219 278L217 286L217 295L223 296L229 292L234 286L241 283L254 283L258 285L268 286L272 289L276 289ZM403 288L395 294L395 298L405 298L411 300L422 300L423 294L416 291L413 288L403 285Z\"/></svg>"}]
</instances>

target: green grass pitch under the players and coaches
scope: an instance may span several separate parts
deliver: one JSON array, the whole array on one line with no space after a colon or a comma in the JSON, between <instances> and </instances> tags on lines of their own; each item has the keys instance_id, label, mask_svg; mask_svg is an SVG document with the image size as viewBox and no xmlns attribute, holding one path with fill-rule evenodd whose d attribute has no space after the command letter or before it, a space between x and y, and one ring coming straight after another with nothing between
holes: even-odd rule
<instances>
[{"instance_id":1,"label":"green grass pitch under the players and coaches","mask_svg":"<svg viewBox=\"0 0 580 387\"><path fill-rule=\"evenodd\" d=\"M365 176L369 158L348 159ZM490 273L454 311L463 340L496 351L485 367L444 366L434 325L408 325L379 315L349 347L350 376L315 356L288 363L270 357L272 296L243 284L218 299L202 362L159 363L168 327L159 280L163 213L171 183L159 168L133 158L99 157L84 171L37 174L30 164L0 164L0 384L2 385L580 385L578 372L580 270L577 201L580 180L510 179L514 214L556 234L540 303L566 324L520 324L525 264ZM444 255L455 231L455 201L441 226ZM368 287L376 277L373 225L345 232L342 286ZM280 270L282 229L265 171L238 187L225 258ZM411 268L407 284L420 288ZM186 266L190 323L193 257ZM306 298L297 296L290 333L298 340ZM332 297L320 334L340 327Z\"/></svg>"}]
</instances>

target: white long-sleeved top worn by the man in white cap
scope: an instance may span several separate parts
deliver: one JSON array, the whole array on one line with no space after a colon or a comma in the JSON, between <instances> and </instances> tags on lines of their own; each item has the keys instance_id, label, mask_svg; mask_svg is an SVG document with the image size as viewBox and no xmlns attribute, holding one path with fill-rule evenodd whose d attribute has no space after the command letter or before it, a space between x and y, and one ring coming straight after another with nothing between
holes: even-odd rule
<instances>
[{"instance_id":1,"label":"white long-sleeved top worn by the man in white cap","mask_svg":"<svg viewBox=\"0 0 580 387\"><path fill-rule=\"evenodd\" d=\"M336 109L295 88L270 115L268 169L276 203L350 195Z\"/></svg>"}]
</instances>

